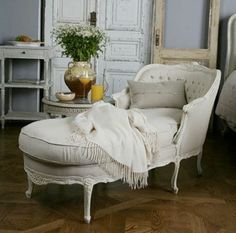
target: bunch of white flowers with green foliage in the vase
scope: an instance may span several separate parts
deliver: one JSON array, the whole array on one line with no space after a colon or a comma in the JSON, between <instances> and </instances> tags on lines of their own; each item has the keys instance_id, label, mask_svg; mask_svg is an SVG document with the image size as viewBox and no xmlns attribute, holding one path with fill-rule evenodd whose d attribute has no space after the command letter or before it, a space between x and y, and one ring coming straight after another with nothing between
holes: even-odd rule
<instances>
[{"instance_id":1,"label":"bunch of white flowers with green foliage in the vase","mask_svg":"<svg viewBox=\"0 0 236 233\"><path fill-rule=\"evenodd\" d=\"M105 43L105 33L90 25L62 25L54 28L52 34L63 51L62 55L74 61L89 61L98 57Z\"/></svg>"}]
</instances>

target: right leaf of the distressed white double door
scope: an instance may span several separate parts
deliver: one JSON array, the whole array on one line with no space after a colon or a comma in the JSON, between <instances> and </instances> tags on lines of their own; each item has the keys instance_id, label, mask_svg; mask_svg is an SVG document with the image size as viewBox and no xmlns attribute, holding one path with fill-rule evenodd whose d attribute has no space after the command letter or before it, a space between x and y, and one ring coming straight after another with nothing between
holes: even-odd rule
<instances>
[{"instance_id":1,"label":"right leaf of the distressed white double door","mask_svg":"<svg viewBox=\"0 0 236 233\"><path fill-rule=\"evenodd\" d=\"M150 62L150 0L100 0L98 25L108 36L97 61L100 79L109 83L108 94L127 86L137 71Z\"/></svg>"}]
</instances>

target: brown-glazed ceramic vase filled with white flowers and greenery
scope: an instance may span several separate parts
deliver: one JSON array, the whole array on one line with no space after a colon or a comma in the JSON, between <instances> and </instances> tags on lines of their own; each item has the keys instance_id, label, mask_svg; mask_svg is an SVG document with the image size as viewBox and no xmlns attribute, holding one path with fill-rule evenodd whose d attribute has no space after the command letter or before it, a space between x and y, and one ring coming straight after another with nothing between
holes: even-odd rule
<instances>
[{"instance_id":1,"label":"brown-glazed ceramic vase filled with white flowers and greenery","mask_svg":"<svg viewBox=\"0 0 236 233\"><path fill-rule=\"evenodd\" d=\"M90 25L61 25L53 30L55 41L62 48L62 55L72 58L64 80L77 97L86 98L95 73L90 68L90 59L98 57L105 43L105 33Z\"/></svg>"}]
</instances>

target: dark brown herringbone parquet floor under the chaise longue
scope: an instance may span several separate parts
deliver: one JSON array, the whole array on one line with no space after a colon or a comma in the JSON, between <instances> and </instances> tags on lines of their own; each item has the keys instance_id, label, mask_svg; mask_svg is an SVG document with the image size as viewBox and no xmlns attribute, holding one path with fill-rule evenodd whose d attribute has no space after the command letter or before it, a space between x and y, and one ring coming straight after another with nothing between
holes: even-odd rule
<instances>
[{"instance_id":1,"label":"dark brown herringbone parquet floor under the chaise longue","mask_svg":"<svg viewBox=\"0 0 236 233\"><path fill-rule=\"evenodd\" d=\"M117 181L98 184L92 196L92 223L83 222L79 185L27 187L18 135L22 124L0 131L0 233L235 233L236 135L208 135L204 173L196 158L181 163L179 193L170 192L173 165L150 173L149 186L130 190Z\"/></svg>"}]
</instances>

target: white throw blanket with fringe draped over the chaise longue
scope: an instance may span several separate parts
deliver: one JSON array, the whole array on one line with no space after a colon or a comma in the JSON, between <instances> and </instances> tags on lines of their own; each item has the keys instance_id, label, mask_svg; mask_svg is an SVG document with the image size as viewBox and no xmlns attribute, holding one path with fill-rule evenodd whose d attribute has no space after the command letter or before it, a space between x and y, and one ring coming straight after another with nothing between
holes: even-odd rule
<instances>
[{"instance_id":1,"label":"white throw blanket with fringe draped over the chaise longue","mask_svg":"<svg viewBox=\"0 0 236 233\"><path fill-rule=\"evenodd\" d=\"M98 102L74 119L72 141L84 155L132 188L147 185L148 165L157 150L155 130L138 109L124 110Z\"/></svg>"}]
</instances>

